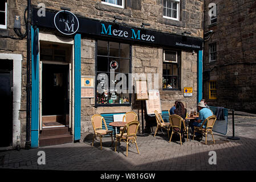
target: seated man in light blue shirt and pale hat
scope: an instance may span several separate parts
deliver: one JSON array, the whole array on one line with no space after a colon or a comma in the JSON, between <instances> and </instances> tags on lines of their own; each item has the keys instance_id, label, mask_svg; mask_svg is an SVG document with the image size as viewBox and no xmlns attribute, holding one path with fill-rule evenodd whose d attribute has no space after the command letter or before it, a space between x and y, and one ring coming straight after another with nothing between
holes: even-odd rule
<instances>
[{"instance_id":1,"label":"seated man in light blue shirt and pale hat","mask_svg":"<svg viewBox=\"0 0 256 182\"><path fill-rule=\"evenodd\" d=\"M210 109L206 108L204 102L199 102L197 107L199 110L199 118L195 119L194 121L189 123L190 127L192 129L192 133L194 133L194 126L200 127L206 118L213 115L212 111ZM205 128L205 126L203 126L203 127ZM202 134L195 133L195 135L196 135L197 140L202 139Z\"/></svg>"}]
</instances>

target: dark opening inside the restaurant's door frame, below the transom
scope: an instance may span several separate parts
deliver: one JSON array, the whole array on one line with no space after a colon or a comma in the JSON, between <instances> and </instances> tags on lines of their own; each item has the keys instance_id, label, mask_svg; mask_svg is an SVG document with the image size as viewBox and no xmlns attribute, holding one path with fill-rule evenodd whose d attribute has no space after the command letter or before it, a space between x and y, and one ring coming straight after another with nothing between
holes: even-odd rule
<instances>
[{"instance_id":1,"label":"dark opening inside the restaurant's door frame, below the transom","mask_svg":"<svg viewBox=\"0 0 256 182\"><path fill-rule=\"evenodd\" d=\"M68 114L68 65L43 64L43 127L67 125Z\"/></svg>"}]
</instances>

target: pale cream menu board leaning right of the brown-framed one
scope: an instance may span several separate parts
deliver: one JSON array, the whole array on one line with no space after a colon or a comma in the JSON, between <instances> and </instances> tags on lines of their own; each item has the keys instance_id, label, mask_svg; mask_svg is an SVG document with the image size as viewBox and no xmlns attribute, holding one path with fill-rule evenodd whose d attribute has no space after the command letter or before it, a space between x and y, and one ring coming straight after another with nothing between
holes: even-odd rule
<instances>
[{"instance_id":1,"label":"pale cream menu board leaning right of the brown-framed one","mask_svg":"<svg viewBox=\"0 0 256 182\"><path fill-rule=\"evenodd\" d=\"M146 106L148 115L155 115L155 110L162 113L159 90L148 90Z\"/></svg>"}]
</instances>

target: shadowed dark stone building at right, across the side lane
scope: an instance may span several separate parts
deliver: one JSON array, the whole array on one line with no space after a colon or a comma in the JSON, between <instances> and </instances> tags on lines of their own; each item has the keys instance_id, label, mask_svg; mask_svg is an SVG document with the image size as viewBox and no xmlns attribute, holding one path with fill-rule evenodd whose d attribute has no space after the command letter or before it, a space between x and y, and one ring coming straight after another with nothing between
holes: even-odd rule
<instances>
[{"instance_id":1,"label":"shadowed dark stone building at right, across the side lane","mask_svg":"<svg viewBox=\"0 0 256 182\"><path fill-rule=\"evenodd\" d=\"M212 18L210 3L217 5ZM205 1L205 12L204 98L208 105L255 113L256 2Z\"/></svg>"}]
</instances>

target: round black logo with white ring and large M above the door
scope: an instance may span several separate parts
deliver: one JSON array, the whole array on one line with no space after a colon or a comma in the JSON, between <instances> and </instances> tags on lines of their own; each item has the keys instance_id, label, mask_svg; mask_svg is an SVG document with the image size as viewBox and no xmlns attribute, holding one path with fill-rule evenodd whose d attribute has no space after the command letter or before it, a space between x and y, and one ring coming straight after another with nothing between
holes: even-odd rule
<instances>
[{"instance_id":1,"label":"round black logo with white ring and large M above the door","mask_svg":"<svg viewBox=\"0 0 256 182\"><path fill-rule=\"evenodd\" d=\"M62 10L55 14L54 24L55 27L65 35L75 34L79 28L78 18L67 10Z\"/></svg>"}]
</instances>

